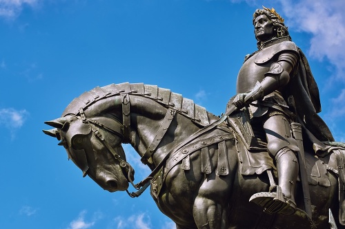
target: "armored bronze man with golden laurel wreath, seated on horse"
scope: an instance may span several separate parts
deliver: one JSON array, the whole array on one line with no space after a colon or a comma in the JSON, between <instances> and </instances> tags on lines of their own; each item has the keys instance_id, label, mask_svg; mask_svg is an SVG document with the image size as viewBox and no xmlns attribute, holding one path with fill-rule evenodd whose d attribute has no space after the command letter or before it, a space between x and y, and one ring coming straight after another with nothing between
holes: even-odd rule
<instances>
[{"instance_id":1,"label":"armored bronze man with golden laurel wreath, seated on horse","mask_svg":"<svg viewBox=\"0 0 345 229\"><path fill-rule=\"evenodd\" d=\"M266 135L268 153L277 167L279 186L275 192L253 195L250 201L261 202L259 205L273 212L293 214L299 169L295 152L299 149L291 138L293 116L286 95L291 91L293 78L299 77L300 50L291 41L284 19L274 9L256 10L253 25L259 50L246 56L239 70L233 105L237 109L247 106L254 133ZM331 132L328 134L331 136Z\"/></svg>"}]
</instances>

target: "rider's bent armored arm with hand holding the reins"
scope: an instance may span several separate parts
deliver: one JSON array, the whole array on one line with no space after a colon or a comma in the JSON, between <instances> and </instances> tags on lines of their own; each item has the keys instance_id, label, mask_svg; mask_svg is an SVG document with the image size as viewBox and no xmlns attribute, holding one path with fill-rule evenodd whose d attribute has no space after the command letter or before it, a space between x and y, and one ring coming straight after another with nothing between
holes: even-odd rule
<instances>
[{"instance_id":1,"label":"rider's bent armored arm with hand holding the reins","mask_svg":"<svg viewBox=\"0 0 345 229\"><path fill-rule=\"evenodd\" d=\"M270 65L264 80L257 82L255 87L247 93L237 94L233 105L241 109L255 100L260 100L271 92L286 86L290 80L290 73L297 64L298 55L295 52L287 52L279 55L277 62Z\"/></svg>"}]
</instances>

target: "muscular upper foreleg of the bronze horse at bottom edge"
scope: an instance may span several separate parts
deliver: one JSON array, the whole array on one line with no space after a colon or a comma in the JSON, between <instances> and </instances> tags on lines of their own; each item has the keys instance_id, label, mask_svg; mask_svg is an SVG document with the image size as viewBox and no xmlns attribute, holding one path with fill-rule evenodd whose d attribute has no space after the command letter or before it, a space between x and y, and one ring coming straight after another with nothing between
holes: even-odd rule
<instances>
[{"instance_id":1,"label":"muscular upper foreleg of the bronze horse at bottom edge","mask_svg":"<svg viewBox=\"0 0 345 229\"><path fill-rule=\"evenodd\" d=\"M216 176L201 185L193 206L193 217L199 229L227 228L229 183Z\"/></svg>"}]
</instances>

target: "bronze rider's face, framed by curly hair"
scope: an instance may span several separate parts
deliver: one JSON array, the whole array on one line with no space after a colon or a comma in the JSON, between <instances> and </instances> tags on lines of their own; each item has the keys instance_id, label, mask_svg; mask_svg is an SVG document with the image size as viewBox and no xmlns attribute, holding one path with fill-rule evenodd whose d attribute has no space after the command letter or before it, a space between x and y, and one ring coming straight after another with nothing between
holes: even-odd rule
<instances>
[{"instance_id":1,"label":"bronze rider's face, framed by curly hair","mask_svg":"<svg viewBox=\"0 0 345 229\"><path fill-rule=\"evenodd\" d=\"M255 37L259 41L268 41L274 36L272 21L265 14L259 15L254 21Z\"/></svg>"}]
</instances>

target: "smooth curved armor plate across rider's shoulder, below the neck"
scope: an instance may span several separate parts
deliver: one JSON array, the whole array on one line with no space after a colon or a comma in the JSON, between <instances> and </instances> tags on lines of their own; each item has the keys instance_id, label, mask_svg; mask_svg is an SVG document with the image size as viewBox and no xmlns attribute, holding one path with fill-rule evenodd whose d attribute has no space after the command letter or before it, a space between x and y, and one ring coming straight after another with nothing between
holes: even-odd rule
<instances>
[{"instance_id":1,"label":"smooth curved armor plate across rider's shoulder, below the neck","mask_svg":"<svg viewBox=\"0 0 345 229\"><path fill-rule=\"evenodd\" d=\"M256 64L264 64L270 61L273 56L282 52L295 52L298 55L297 46L292 41L282 41L275 45L264 48L255 56L254 62Z\"/></svg>"}]
</instances>

